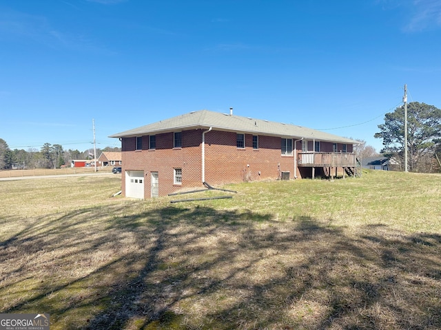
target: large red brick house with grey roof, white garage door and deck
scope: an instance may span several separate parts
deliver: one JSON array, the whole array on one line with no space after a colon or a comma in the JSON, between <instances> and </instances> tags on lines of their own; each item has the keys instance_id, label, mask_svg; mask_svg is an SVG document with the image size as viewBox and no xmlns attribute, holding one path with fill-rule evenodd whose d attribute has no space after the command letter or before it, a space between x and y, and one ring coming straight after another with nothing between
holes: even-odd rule
<instances>
[{"instance_id":1,"label":"large red brick house with grey roof, white garage door and deck","mask_svg":"<svg viewBox=\"0 0 441 330\"><path fill-rule=\"evenodd\" d=\"M302 126L201 110L110 135L122 143L122 193L355 173L356 140Z\"/></svg>"}]
</instances>

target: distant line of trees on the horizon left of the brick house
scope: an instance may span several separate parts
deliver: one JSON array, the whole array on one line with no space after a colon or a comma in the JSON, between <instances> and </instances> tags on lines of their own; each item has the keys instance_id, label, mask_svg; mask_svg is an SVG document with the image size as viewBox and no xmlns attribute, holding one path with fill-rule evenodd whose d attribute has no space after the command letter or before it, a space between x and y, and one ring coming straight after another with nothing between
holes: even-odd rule
<instances>
[{"instance_id":1,"label":"distant line of trees on the horizon left of the brick house","mask_svg":"<svg viewBox=\"0 0 441 330\"><path fill-rule=\"evenodd\" d=\"M121 151L121 148L106 146L103 149L96 148L96 157L103 151ZM73 159L93 159L93 149L83 152L75 149L65 150L61 144L45 143L39 149L28 148L11 150L5 140L0 138L0 170L13 168L60 168L70 166Z\"/></svg>"}]
</instances>

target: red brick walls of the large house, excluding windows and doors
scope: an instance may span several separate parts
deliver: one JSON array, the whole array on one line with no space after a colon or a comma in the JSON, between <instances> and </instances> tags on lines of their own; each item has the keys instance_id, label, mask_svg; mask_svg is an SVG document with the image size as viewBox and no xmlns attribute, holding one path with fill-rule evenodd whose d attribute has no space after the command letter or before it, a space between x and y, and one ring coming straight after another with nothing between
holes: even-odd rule
<instances>
[{"instance_id":1,"label":"red brick walls of the large house, excluding windows and doors","mask_svg":"<svg viewBox=\"0 0 441 330\"><path fill-rule=\"evenodd\" d=\"M202 186L202 129L182 132L182 148L173 148L173 133L156 135L156 148L148 149L149 137L143 136L143 148L135 150L135 137L123 138L122 190L125 195L124 170L143 170L145 198L150 198L152 172L158 172L159 195L165 196L181 188ZM245 134L245 148L236 147L236 132L209 131L205 134L205 181L216 186L230 182L277 179L283 171L289 177L301 178L299 168L294 173L293 155L283 156L280 137L258 136L254 149L252 134ZM297 151L302 144L297 142ZM338 144L341 148L341 145ZM322 151L332 151L331 142L322 142ZM329 150L328 150L329 149ZM350 149L350 150L349 150ZM348 152L352 145L348 145ZM174 184L174 168L182 169L182 185Z\"/></svg>"}]
</instances>

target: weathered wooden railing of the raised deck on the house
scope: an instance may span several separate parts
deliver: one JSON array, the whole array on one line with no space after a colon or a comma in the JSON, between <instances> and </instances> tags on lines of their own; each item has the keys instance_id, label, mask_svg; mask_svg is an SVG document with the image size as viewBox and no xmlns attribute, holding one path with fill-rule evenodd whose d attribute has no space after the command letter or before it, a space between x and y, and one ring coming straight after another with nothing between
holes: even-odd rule
<instances>
[{"instance_id":1,"label":"weathered wooden railing of the raised deck on the house","mask_svg":"<svg viewBox=\"0 0 441 330\"><path fill-rule=\"evenodd\" d=\"M355 153L298 153L297 164L303 167L356 167Z\"/></svg>"}]
</instances>

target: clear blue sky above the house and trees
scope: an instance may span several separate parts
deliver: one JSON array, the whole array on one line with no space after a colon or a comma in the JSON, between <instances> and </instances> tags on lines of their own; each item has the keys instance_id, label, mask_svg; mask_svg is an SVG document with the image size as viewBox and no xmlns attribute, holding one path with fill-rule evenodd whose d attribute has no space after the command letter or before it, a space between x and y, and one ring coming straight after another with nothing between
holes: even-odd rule
<instances>
[{"instance_id":1,"label":"clear blue sky above the house and trees","mask_svg":"<svg viewBox=\"0 0 441 330\"><path fill-rule=\"evenodd\" d=\"M0 138L108 135L201 109L365 140L441 108L439 0L0 0Z\"/></svg>"}]
</instances>

